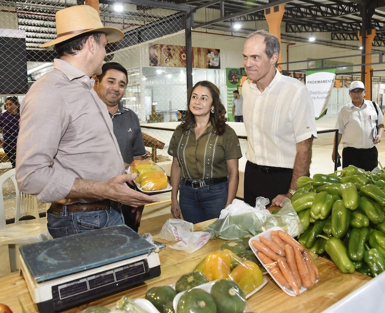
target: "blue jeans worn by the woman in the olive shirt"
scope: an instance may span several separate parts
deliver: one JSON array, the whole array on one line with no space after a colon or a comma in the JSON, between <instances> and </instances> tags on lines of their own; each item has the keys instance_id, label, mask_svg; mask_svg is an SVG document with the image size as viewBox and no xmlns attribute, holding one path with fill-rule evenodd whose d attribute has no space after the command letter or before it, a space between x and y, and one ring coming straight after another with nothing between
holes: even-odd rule
<instances>
[{"instance_id":1,"label":"blue jeans worn by the woman in the olive shirt","mask_svg":"<svg viewBox=\"0 0 385 313\"><path fill-rule=\"evenodd\" d=\"M228 182L193 189L179 184L179 204L183 220L193 224L218 218L227 202Z\"/></svg>"}]
</instances>

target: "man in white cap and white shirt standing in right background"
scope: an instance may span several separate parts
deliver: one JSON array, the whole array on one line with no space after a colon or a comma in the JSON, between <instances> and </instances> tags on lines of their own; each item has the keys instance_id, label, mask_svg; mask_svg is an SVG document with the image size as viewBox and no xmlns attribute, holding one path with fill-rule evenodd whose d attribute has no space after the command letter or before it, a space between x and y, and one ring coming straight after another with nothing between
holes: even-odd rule
<instances>
[{"instance_id":1,"label":"man in white cap and white shirt standing in right background","mask_svg":"<svg viewBox=\"0 0 385 313\"><path fill-rule=\"evenodd\" d=\"M349 96L351 101L341 107L335 124L338 128L337 143L342 139L343 145L342 168L352 164L365 171L371 171L378 164L375 145L381 141L383 115L376 103L364 99L365 86L362 81L351 82ZM334 157L333 148L333 162ZM338 152L337 157L341 157Z\"/></svg>"}]
</instances>

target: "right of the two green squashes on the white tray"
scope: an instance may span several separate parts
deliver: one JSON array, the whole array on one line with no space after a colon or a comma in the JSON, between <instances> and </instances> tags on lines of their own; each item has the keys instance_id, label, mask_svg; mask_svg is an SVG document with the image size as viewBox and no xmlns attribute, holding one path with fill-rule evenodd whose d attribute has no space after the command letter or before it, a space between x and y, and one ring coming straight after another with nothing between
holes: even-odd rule
<instances>
[{"instance_id":1,"label":"right of the two green squashes on the white tray","mask_svg":"<svg viewBox=\"0 0 385 313\"><path fill-rule=\"evenodd\" d=\"M230 280L219 280L211 287L210 295L215 301L217 312L242 313L246 297L238 285Z\"/></svg>"}]
</instances>

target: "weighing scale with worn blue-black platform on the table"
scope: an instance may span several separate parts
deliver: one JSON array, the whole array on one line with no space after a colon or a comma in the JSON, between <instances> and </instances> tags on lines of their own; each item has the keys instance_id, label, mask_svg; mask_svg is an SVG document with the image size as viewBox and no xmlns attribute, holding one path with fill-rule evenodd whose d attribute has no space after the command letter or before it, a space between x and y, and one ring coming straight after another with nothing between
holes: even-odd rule
<instances>
[{"instance_id":1,"label":"weighing scale with worn blue-black platform on the table","mask_svg":"<svg viewBox=\"0 0 385 313\"><path fill-rule=\"evenodd\" d=\"M20 270L40 313L60 311L160 275L154 246L126 225L20 247Z\"/></svg>"}]
</instances>

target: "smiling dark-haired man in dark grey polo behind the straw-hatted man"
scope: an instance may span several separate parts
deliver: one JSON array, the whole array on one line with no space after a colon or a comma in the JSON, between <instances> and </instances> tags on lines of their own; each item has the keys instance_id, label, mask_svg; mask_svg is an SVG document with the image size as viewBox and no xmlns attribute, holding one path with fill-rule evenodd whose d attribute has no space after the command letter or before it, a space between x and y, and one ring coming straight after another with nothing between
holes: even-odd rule
<instances>
[{"instance_id":1,"label":"smiling dark-haired man in dark grey polo behind the straw-hatted man","mask_svg":"<svg viewBox=\"0 0 385 313\"><path fill-rule=\"evenodd\" d=\"M119 63L108 62L103 64L102 73L96 76L94 89L107 106L123 161L130 164L133 160L143 160L145 149L138 117L120 102L127 81L127 70ZM125 224L136 232L143 208L122 206Z\"/></svg>"}]
</instances>

